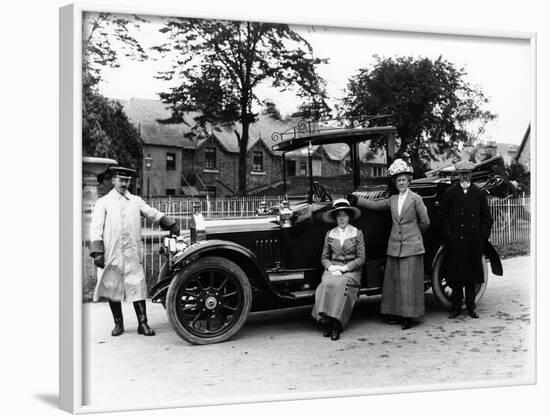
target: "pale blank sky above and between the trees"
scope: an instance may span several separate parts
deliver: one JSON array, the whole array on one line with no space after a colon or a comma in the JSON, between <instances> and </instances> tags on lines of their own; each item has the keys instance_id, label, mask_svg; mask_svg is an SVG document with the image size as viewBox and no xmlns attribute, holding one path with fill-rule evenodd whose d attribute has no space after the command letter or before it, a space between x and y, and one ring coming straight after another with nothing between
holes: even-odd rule
<instances>
[{"instance_id":1,"label":"pale blank sky above and between the trees","mask_svg":"<svg viewBox=\"0 0 550 417\"><path fill-rule=\"evenodd\" d=\"M158 32L160 18L148 17L135 33L143 46L164 41ZM489 99L486 108L497 115L486 129L482 140L519 144L530 121L533 82L532 59L527 40L459 37L451 35L398 33L380 30L292 26L307 39L313 52L329 63L319 66L327 82L327 92L334 104L343 96L349 77L358 69L369 67L380 57L413 56L437 59L442 56L466 70L466 80L479 86ZM103 70L100 92L106 97L158 99L170 84L155 79L169 62L156 60L135 62L121 59L119 68ZM300 103L295 95L281 93L267 86L257 90L261 99L270 99L283 115L294 112Z\"/></svg>"}]
</instances>

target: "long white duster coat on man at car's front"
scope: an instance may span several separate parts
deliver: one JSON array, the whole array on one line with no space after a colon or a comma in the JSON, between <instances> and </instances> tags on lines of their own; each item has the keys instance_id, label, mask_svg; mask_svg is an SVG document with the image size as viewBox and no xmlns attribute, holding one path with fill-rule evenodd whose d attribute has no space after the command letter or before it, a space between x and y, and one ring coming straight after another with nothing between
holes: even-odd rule
<instances>
[{"instance_id":1,"label":"long white duster coat on man at car's front","mask_svg":"<svg viewBox=\"0 0 550 417\"><path fill-rule=\"evenodd\" d=\"M129 191L121 194L114 188L97 200L90 240L103 242L105 268L98 268L94 301L139 301L146 298L141 216L157 222L164 213Z\"/></svg>"}]
</instances>

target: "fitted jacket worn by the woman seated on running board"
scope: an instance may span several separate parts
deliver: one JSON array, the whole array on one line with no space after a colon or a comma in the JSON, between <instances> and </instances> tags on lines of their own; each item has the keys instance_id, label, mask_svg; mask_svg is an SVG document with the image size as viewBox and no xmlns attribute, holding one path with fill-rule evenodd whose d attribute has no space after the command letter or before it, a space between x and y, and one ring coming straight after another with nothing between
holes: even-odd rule
<instances>
[{"instance_id":1,"label":"fitted jacket worn by the woman seated on running board","mask_svg":"<svg viewBox=\"0 0 550 417\"><path fill-rule=\"evenodd\" d=\"M348 225L349 235L340 244L338 227L331 229L325 236L321 263L328 269L331 265L346 265L349 274L359 283L361 281L361 268L365 263L365 241L363 232L352 225Z\"/></svg>"}]
</instances>

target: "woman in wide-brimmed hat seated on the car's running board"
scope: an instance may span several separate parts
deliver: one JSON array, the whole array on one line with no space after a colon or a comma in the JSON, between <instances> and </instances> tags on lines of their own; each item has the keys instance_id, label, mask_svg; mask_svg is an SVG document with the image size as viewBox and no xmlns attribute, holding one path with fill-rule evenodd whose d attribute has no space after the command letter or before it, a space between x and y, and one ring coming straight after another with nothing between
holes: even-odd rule
<instances>
[{"instance_id":1,"label":"woman in wide-brimmed hat seated on the car's running board","mask_svg":"<svg viewBox=\"0 0 550 417\"><path fill-rule=\"evenodd\" d=\"M315 291L311 315L323 324L325 337L338 340L346 326L361 285L361 268L365 263L365 243L361 230L349 224L361 215L345 198L334 201L323 220L337 223L327 232L321 263L325 272Z\"/></svg>"}]
</instances>

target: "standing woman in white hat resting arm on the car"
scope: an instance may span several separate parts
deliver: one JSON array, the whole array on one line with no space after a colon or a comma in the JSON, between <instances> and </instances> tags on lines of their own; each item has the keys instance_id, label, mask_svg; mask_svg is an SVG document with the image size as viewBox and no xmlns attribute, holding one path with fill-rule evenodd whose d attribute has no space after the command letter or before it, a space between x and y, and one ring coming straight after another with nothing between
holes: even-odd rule
<instances>
[{"instance_id":1,"label":"standing woman in white hat resting arm on the car","mask_svg":"<svg viewBox=\"0 0 550 417\"><path fill-rule=\"evenodd\" d=\"M397 316L390 323L401 323L403 330L413 318L424 315L424 244L422 233L430 226L422 197L409 189L412 167L396 159L388 169L398 194L372 201L350 197L352 203L371 210L390 210L392 228L386 251L386 270L380 312Z\"/></svg>"}]
</instances>

